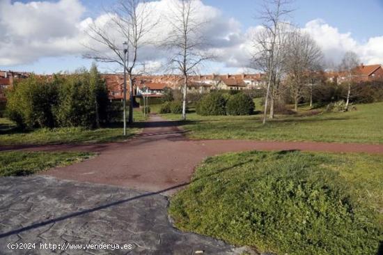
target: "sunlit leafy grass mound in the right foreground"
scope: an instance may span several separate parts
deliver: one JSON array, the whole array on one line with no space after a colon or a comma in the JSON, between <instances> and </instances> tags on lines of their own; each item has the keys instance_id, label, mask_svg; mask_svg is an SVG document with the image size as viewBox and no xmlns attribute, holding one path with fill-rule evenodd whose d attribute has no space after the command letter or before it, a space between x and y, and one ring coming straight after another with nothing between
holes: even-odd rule
<instances>
[{"instance_id":1,"label":"sunlit leafy grass mound in the right foreground","mask_svg":"<svg viewBox=\"0 0 383 255\"><path fill-rule=\"evenodd\" d=\"M382 169L382 156L363 154L210 157L169 213L183 231L260 252L375 255L383 242Z\"/></svg>"}]
</instances>

